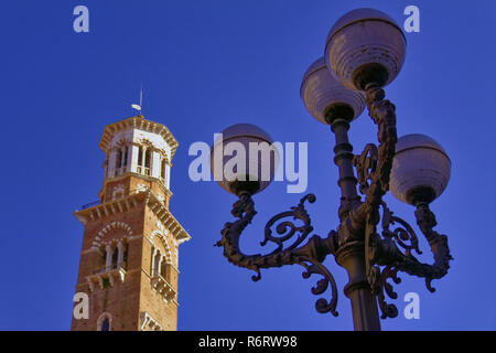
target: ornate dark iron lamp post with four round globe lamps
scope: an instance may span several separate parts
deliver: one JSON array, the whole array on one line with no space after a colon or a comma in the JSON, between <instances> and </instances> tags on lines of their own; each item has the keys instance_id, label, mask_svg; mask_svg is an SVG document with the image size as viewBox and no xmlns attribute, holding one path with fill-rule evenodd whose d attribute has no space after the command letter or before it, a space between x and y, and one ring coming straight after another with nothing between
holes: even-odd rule
<instances>
[{"instance_id":1,"label":"ornate dark iron lamp post with four round globe lamps","mask_svg":"<svg viewBox=\"0 0 496 353\"><path fill-rule=\"evenodd\" d=\"M384 87L398 75L405 55L406 39L398 24L380 11L358 9L335 23L324 57L314 62L303 76L300 93L306 109L315 119L331 126L335 136L339 224L326 237L309 238L313 227L304 204L315 202L315 196L309 194L299 205L267 223L261 245L274 243L276 250L267 255L244 254L239 237L256 215L252 196L267 188L268 182L247 178L248 164L219 181L225 190L238 196L231 211L237 220L226 223L216 244L224 247L227 259L255 270L254 280L260 279L262 268L303 266L304 278L322 277L312 288L313 295L331 292L330 300L316 300L316 310L337 315L336 282L323 265L333 255L348 274L344 293L352 302L355 330L380 330L378 309L382 319L398 315L396 306L386 302L386 297L397 297L388 280L399 284L398 271L424 278L432 292L431 281L448 272L452 259L448 237L433 229L436 221L429 206L448 184L450 159L427 136L407 135L398 139L395 106L385 99ZM378 146L368 143L355 156L347 133L351 122L360 116L365 106L378 127ZM263 130L251 125L237 125L225 132L224 140L214 145L213 154L229 141L247 149L249 142L271 142ZM274 163L268 168L273 176ZM213 169L214 173L218 172L214 162ZM256 176L260 176L260 171ZM413 255L421 254L417 234L388 208L382 200L388 191L416 207L417 224L434 257L432 265L420 263ZM273 235L272 229L280 236Z\"/></svg>"}]
</instances>

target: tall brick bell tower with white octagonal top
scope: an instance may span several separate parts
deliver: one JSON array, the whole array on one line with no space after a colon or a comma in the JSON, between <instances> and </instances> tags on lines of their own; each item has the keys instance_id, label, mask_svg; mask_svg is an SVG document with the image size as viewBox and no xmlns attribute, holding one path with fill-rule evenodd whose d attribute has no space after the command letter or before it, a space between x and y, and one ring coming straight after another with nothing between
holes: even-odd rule
<instances>
[{"instance_id":1,"label":"tall brick bell tower with white octagonal top","mask_svg":"<svg viewBox=\"0 0 496 353\"><path fill-rule=\"evenodd\" d=\"M99 202L74 215L84 224L76 292L88 319L72 330L176 330L179 245L191 237L169 212L177 141L141 115L108 125Z\"/></svg>"}]
</instances>

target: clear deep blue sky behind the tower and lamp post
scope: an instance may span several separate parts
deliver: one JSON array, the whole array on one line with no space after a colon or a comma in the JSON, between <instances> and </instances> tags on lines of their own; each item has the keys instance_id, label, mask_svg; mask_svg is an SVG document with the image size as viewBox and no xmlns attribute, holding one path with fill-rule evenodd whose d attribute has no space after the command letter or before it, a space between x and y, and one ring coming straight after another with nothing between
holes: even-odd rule
<instances>
[{"instance_id":1,"label":"clear deep blue sky behind the tower and lamp post","mask_svg":"<svg viewBox=\"0 0 496 353\"><path fill-rule=\"evenodd\" d=\"M3 168L0 236L0 329L68 330L82 224L72 215L97 200L107 124L131 116L144 86L147 118L180 141L173 160L171 211L193 236L180 248L181 330L351 330L344 269L326 265L339 288L339 317L319 314L314 281L301 268L251 272L213 244L230 221L234 196L214 182L194 183L187 148L236 122L262 127L278 141L309 142L309 206L315 233L337 226L337 170L331 131L305 111L301 77L323 55L332 24L353 8L374 7L399 23L416 4L420 33L407 34L407 60L387 87L398 133L432 136L452 160L445 193L432 204L454 260L429 293L403 275L400 315L385 330L495 330L496 250L493 104L496 4L493 1L10 1L2 6L0 58ZM73 31L85 4L90 32ZM355 152L376 139L364 114L353 122ZM265 223L298 204L274 183L255 197L258 215L241 245L262 252ZM386 201L414 224L413 210ZM432 261L422 238L420 257ZM406 320L405 293L420 295L420 320Z\"/></svg>"}]
</instances>

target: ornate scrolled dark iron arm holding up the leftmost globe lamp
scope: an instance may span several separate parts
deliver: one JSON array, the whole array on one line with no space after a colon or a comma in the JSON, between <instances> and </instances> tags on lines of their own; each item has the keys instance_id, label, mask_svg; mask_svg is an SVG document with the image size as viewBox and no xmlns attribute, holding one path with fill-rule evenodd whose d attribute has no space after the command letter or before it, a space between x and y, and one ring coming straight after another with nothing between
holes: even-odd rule
<instances>
[{"instance_id":1,"label":"ornate scrolled dark iron arm holding up the leftmost globe lamp","mask_svg":"<svg viewBox=\"0 0 496 353\"><path fill-rule=\"evenodd\" d=\"M315 308L319 312L331 312L337 315L337 288L332 274L322 265L322 261L328 254L332 254L335 248L336 233L331 232L326 238L321 238L317 235L312 236L305 245L301 245L308 235L313 231L311 220L304 207L304 202L315 202L315 195L309 194L301 199L295 207L291 211L282 212L273 216L266 225L265 239L260 244L265 246L268 242L274 243L278 247L267 255L246 255L239 247L239 238L241 233L251 223L257 211L255 211L255 203L249 193L241 193L239 200L233 205L231 214L238 220L226 223L224 229L220 232L222 239L215 245L224 247L224 256L233 265L251 269L256 275L251 277L254 281L261 278L261 268L281 267L284 265L301 265L305 268L303 278L309 278L311 275L320 275L320 279L314 288L313 295L322 295L331 287L331 300L319 299L315 302ZM292 217L294 221L301 221L303 224L298 226L294 222L284 221L282 218ZM279 224L277 224L280 222ZM282 235L276 237L272 235L272 227L276 226L278 234ZM284 243L294 238L293 243L284 247Z\"/></svg>"}]
</instances>

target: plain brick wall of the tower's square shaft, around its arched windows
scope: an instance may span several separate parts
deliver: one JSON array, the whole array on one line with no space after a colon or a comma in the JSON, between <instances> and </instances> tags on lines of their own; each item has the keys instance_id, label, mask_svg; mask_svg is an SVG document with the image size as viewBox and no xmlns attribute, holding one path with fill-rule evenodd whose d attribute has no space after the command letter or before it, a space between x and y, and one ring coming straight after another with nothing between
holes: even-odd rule
<instances>
[{"instance_id":1,"label":"plain brick wall of the tower's square shaft, around its arched windows","mask_svg":"<svg viewBox=\"0 0 496 353\"><path fill-rule=\"evenodd\" d=\"M95 290L90 291L87 276L94 275L105 265L105 253L91 250L91 247L98 233L112 222L125 223L132 233L128 240L126 279L123 284L116 280L114 287L107 285L104 289L95 286ZM73 318L72 330L96 330L97 320L104 312L111 314L112 330L139 330L140 313L144 311L160 323L162 330L177 329L176 301L165 302L163 297L151 285L152 247L159 248L162 254L166 253L163 240L157 235L157 232L160 232L157 223L158 217L154 213L140 203L129 212L89 221L86 224L76 291L86 292L89 296L89 319L76 320ZM152 236L154 232L155 235ZM100 242L117 240L125 234L127 234L127 231L117 226L108 231ZM175 265L177 264L176 245L169 232L165 240L172 263ZM177 291L177 272L172 270L170 274L170 284Z\"/></svg>"}]
</instances>

